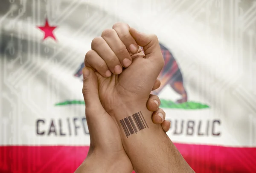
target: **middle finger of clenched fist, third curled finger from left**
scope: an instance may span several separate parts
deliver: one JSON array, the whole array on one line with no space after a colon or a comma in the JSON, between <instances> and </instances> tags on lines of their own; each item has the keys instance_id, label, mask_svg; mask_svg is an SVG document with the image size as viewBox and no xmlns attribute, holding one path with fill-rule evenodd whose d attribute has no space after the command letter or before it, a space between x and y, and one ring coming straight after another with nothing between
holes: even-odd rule
<instances>
[{"instance_id":1,"label":"middle finger of clenched fist, third curled finger from left","mask_svg":"<svg viewBox=\"0 0 256 173\"><path fill-rule=\"evenodd\" d=\"M119 62L122 64L123 67L126 68L131 65L131 56L114 29L104 30L102 32L102 38L104 38L104 40L108 43L109 47L116 54L116 57L119 59Z\"/></svg>"}]
</instances>

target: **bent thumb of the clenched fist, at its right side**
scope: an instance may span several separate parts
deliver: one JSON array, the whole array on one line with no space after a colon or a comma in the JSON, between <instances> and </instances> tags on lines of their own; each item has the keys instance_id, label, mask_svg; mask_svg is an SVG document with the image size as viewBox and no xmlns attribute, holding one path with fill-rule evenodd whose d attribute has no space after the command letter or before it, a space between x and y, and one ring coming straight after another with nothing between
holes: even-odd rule
<instances>
[{"instance_id":1,"label":"bent thumb of the clenched fist, at its right side","mask_svg":"<svg viewBox=\"0 0 256 173\"><path fill-rule=\"evenodd\" d=\"M134 28L130 28L129 31L138 45L143 47L145 58L156 64L155 67L157 68L157 71L161 71L164 65L164 60L157 36L154 34L140 33Z\"/></svg>"}]
</instances>

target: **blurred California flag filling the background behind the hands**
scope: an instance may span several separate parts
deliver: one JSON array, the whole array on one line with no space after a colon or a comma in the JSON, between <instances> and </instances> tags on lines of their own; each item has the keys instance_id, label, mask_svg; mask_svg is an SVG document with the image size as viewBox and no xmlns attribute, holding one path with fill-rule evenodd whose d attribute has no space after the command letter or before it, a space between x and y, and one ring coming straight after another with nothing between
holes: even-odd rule
<instances>
[{"instance_id":1,"label":"blurred California flag filling the background behind the hands","mask_svg":"<svg viewBox=\"0 0 256 173\"><path fill-rule=\"evenodd\" d=\"M154 94L195 172L255 173L256 0L1 0L0 173L83 162L84 55L116 22L157 34Z\"/></svg>"}]
</instances>

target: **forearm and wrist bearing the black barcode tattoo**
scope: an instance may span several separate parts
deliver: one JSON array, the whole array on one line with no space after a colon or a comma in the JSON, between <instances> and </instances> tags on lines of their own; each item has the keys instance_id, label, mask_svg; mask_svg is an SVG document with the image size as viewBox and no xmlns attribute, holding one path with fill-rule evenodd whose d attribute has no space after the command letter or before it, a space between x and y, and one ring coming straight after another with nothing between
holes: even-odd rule
<instances>
[{"instance_id":1,"label":"forearm and wrist bearing the black barcode tattoo","mask_svg":"<svg viewBox=\"0 0 256 173\"><path fill-rule=\"evenodd\" d=\"M139 113L132 116L137 112ZM161 125L156 125L151 121L152 112L148 111L146 107L140 105L121 106L111 114L117 120L125 152L131 159L136 173L194 172L163 131ZM131 117L125 120L124 118L128 116ZM122 123L121 119L124 119ZM138 125L136 119L137 122L141 121ZM128 127L129 122L132 129Z\"/></svg>"}]
</instances>

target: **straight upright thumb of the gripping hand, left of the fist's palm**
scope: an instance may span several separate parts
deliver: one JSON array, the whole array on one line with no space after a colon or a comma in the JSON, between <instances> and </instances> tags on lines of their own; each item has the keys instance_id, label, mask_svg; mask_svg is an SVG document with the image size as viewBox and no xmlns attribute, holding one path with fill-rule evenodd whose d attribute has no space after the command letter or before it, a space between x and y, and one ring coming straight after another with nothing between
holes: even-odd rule
<instances>
[{"instance_id":1,"label":"straight upright thumb of the gripping hand, left of the fist's palm","mask_svg":"<svg viewBox=\"0 0 256 173\"><path fill-rule=\"evenodd\" d=\"M84 67L83 70L84 85L82 93L84 95L84 102L86 112L91 114L102 115L105 109L99 100L98 81L95 72L90 67ZM90 115L87 115L90 116Z\"/></svg>"}]
</instances>

